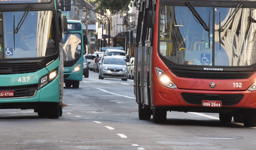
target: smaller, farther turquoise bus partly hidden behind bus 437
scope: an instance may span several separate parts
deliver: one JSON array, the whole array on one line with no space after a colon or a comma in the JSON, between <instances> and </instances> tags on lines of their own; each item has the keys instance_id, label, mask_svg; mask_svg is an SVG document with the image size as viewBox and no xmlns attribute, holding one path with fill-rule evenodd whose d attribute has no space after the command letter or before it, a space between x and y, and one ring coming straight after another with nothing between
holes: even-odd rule
<instances>
[{"instance_id":1,"label":"smaller, farther turquoise bus partly hidden behind bus 437","mask_svg":"<svg viewBox=\"0 0 256 150\"><path fill-rule=\"evenodd\" d=\"M79 83L83 79L84 61L84 36L81 21L67 20L68 31L65 32L64 43L64 82L66 88L79 88Z\"/></svg>"}]
</instances>

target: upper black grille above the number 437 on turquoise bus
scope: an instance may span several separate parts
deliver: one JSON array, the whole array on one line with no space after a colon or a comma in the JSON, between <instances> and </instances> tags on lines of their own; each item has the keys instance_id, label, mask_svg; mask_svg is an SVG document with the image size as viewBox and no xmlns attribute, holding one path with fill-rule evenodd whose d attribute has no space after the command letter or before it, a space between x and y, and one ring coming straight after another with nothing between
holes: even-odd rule
<instances>
[{"instance_id":1,"label":"upper black grille above the number 437 on turquoise bus","mask_svg":"<svg viewBox=\"0 0 256 150\"><path fill-rule=\"evenodd\" d=\"M39 63L6 63L0 64L0 75L31 73L42 68Z\"/></svg>"}]
</instances>

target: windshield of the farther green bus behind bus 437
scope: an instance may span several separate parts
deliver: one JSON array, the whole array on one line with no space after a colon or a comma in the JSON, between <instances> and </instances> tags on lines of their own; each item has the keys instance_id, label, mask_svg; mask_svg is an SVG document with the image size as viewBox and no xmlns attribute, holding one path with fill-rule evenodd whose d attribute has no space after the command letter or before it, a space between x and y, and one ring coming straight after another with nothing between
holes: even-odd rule
<instances>
[{"instance_id":1,"label":"windshield of the farther green bus behind bus 437","mask_svg":"<svg viewBox=\"0 0 256 150\"><path fill-rule=\"evenodd\" d=\"M66 36L68 36L66 38ZM81 34L79 33L65 33L66 43L64 43L64 61L73 61L81 57Z\"/></svg>"}]
</instances>

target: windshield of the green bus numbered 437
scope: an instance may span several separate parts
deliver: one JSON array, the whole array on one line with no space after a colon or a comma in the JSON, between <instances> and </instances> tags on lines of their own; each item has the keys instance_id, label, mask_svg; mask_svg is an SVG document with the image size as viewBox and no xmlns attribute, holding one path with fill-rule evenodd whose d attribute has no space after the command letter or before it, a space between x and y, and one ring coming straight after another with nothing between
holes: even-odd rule
<instances>
[{"instance_id":1,"label":"windshield of the green bus numbered 437","mask_svg":"<svg viewBox=\"0 0 256 150\"><path fill-rule=\"evenodd\" d=\"M44 57L55 54L54 35L51 31L52 23L54 23L53 12L30 11L17 34L14 34L14 28L17 27L23 13L0 13L1 20L3 20L0 22L0 34L4 35L0 38L2 49L0 59Z\"/></svg>"}]
</instances>

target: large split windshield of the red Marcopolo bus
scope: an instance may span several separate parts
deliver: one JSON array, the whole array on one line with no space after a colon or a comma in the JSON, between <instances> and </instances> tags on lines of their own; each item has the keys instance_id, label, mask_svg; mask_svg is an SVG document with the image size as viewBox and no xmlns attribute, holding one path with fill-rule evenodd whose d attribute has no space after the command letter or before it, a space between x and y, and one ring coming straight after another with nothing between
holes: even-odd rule
<instances>
[{"instance_id":1,"label":"large split windshield of the red Marcopolo bus","mask_svg":"<svg viewBox=\"0 0 256 150\"><path fill-rule=\"evenodd\" d=\"M186 65L246 66L256 63L256 20L253 16L256 10L240 7L195 7L205 23L211 25L208 33L188 6L161 6L160 55L173 63Z\"/></svg>"}]
</instances>

